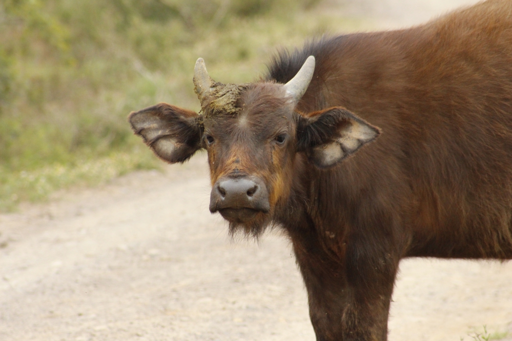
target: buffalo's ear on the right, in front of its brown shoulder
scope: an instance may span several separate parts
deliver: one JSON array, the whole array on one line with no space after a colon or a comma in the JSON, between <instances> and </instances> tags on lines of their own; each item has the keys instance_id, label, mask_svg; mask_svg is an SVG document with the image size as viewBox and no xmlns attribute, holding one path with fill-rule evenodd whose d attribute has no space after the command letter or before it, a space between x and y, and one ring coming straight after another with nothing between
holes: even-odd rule
<instances>
[{"instance_id":1,"label":"buffalo's ear on the right, in front of its brown shoulder","mask_svg":"<svg viewBox=\"0 0 512 341\"><path fill-rule=\"evenodd\" d=\"M300 116L298 150L318 167L330 167L375 140L380 130L341 107Z\"/></svg>"}]
</instances>

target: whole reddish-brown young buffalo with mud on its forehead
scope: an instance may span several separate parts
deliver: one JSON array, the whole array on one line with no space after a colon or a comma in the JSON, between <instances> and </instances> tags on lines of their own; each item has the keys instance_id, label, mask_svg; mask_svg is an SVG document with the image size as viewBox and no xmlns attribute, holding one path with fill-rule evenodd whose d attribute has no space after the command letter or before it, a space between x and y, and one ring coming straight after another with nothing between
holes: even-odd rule
<instances>
[{"instance_id":1,"label":"whole reddish-brown young buffalo with mud on its forehead","mask_svg":"<svg viewBox=\"0 0 512 341\"><path fill-rule=\"evenodd\" d=\"M512 258L512 2L281 52L248 84L194 75L202 114L160 103L137 135L208 151L230 231L283 229L317 340L385 340L400 259Z\"/></svg>"}]
</instances>

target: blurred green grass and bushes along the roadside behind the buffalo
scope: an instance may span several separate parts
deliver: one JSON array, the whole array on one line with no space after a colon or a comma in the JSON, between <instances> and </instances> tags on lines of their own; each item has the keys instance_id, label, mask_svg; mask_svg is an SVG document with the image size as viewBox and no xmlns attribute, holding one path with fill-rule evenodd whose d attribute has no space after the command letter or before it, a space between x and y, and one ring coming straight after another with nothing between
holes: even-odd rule
<instances>
[{"instance_id":1,"label":"blurred green grass and bushes along the roadside behind the buffalo","mask_svg":"<svg viewBox=\"0 0 512 341\"><path fill-rule=\"evenodd\" d=\"M130 111L159 101L198 110L199 56L214 78L244 82L278 46L360 27L318 8L319 0L3 0L0 210L158 167L132 135Z\"/></svg>"}]
</instances>

